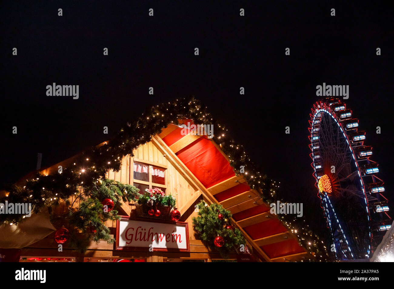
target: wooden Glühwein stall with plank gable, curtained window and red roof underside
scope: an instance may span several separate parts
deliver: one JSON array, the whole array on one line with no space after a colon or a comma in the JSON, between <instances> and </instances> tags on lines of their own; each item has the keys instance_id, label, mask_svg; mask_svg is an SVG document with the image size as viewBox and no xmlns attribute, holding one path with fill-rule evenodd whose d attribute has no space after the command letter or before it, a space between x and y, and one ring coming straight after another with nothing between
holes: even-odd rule
<instances>
[{"instance_id":1,"label":"wooden Gl\u00fchwein stall with plank gable, curtained window and red roof underside","mask_svg":"<svg viewBox=\"0 0 394 289\"><path fill-rule=\"evenodd\" d=\"M181 122L182 123L182 122ZM237 226L247 240L251 255L232 252L230 260L255 261L297 261L304 258L306 250L301 247L297 237L282 225L277 215L270 214L269 204L264 203L260 194L252 190L244 176L235 175L220 147L206 136L182 135L182 127L170 124L152 139L133 151L134 156L123 157L119 172L108 171L106 177L125 184L134 185L141 190L159 187L166 194L176 197L177 208L181 213L179 222L188 229L186 250L160 250L150 252L144 248L119 248L119 244L106 241L91 241L85 254L69 249L67 243L58 252L54 233L24 247L21 258L72 258L75 261L101 261L136 259L141 261L212 261L222 259L218 252L210 251L202 241L197 240L192 227L192 217L197 216L195 205L202 199L217 203L232 213L230 220ZM58 166L67 166L72 158L41 170L42 174L57 171ZM141 169L142 168L142 169ZM152 175L160 172L160 178ZM26 178L23 178L26 179ZM133 203L123 203L117 210L125 218L138 218ZM156 222L156 220L144 220ZM119 225L119 222L118 222ZM117 238L117 222L106 223L111 234Z\"/></svg>"}]
</instances>

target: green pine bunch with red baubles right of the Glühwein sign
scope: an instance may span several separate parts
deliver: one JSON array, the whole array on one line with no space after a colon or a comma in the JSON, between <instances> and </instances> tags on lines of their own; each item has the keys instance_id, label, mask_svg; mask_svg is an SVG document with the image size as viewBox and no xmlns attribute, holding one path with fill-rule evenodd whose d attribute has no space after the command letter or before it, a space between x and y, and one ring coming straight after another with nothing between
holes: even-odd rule
<instances>
[{"instance_id":1,"label":"green pine bunch with red baubles right of the Gl\u00fchwein sign","mask_svg":"<svg viewBox=\"0 0 394 289\"><path fill-rule=\"evenodd\" d=\"M199 202L198 217L192 217L193 229L199 239L211 250L216 249L220 255L228 259L229 252L236 250L240 245L245 245L246 240L238 228L227 229L227 225L231 225L230 218L232 214L225 210L222 205L211 204L206 205L204 201ZM222 214L223 219L219 219L218 215ZM227 221L226 221L227 220ZM223 247L216 247L214 239L221 236L224 239Z\"/></svg>"}]
</instances>

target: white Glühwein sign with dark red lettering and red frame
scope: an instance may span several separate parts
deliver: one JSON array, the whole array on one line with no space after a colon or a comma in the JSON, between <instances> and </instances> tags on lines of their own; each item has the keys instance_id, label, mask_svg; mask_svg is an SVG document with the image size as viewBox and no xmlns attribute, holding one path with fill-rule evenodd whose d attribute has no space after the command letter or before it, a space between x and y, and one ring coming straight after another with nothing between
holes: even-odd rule
<instances>
[{"instance_id":1,"label":"white Gl\u00fchwein sign with dark red lettering and red frame","mask_svg":"<svg viewBox=\"0 0 394 289\"><path fill-rule=\"evenodd\" d=\"M122 217L116 235L116 250L189 252L188 223L184 222Z\"/></svg>"}]
</instances>

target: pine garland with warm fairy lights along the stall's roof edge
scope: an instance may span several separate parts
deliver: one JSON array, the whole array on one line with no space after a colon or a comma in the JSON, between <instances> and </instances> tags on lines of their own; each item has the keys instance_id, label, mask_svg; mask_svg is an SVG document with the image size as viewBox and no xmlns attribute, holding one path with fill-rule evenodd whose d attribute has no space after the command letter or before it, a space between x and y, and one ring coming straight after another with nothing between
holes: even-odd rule
<instances>
[{"instance_id":1,"label":"pine garland with warm fairy lights along the stall's roof edge","mask_svg":"<svg viewBox=\"0 0 394 289\"><path fill-rule=\"evenodd\" d=\"M3 187L8 195L0 198L0 202L5 201L13 203L32 203L33 212L38 212L44 206L52 206L58 204L62 200L65 204L69 204L69 197L78 194L78 188L83 187L84 192L91 200L90 206L83 208L85 210L85 220L94 219L94 224L99 224L99 219L103 216L95 215L95 210L88 208L96 208L98 201L102 201L102 193L95 191L95 184L98 180L102 180L104 184L108 184L105 175L108 170L118 172L121 168L121 160L125 155L131 155L132 151L139 145L149 142L154 134L160 134L162 129L169 124L178 124L178 120L186 118L192 119L199 124L213 124L214 137L213 140L220 145L223 152L229 156L230 165L234 169L236 175L240 173L240 168L244 168L244 177L252 189L260 192L261 198L268 203L275 201L275 185L266 175L261 175L256 165L250 161L250 157L246 154L242 145L235 144L231 140L227 129L216 120L210 113L206 111L199 100L194 97L176 99L173 102L162 103L151 107L142 114L136 121L126 123L117 135L101 146L94 146L84 151L82 154L74 158L74 164L68 168L64 168L62 173L56 173L50 176L44 176L39 173L30 180L27 180L24 187L9 185ZM119 186L121 186L119 184ZM126 186L126 185L124 185ZM108 188L111 186L108 185ZM116 186L115 186L116 187ZM118 203L119 198L123 199L123 190L115 187L108 189L112 193L108 196ZM133 192L131 187L126 188L127 191ZM126 199L131 197L126 195ZM115 212L113 212L115 213ZM23 215L4 215L0 214L0 221L7 224L18 224L23 221ZM100 219L101 224L103 219ZM82 227L82 226L81 226ZM97 233L94 239L104 239L108 237L108 228L96 226ZM88 241L85 239L85 241ZM78 241L82 243L82 241ZM80 245L77 245L77 248ZM83 246L82 246L83 247Z\"/></svg>"}]
</instances>

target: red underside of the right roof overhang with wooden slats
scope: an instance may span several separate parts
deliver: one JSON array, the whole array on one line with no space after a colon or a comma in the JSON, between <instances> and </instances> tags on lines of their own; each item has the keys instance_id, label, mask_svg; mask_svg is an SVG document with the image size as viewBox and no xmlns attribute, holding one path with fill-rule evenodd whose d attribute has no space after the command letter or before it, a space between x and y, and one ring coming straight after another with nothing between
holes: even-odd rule
<instances>
[{"instance_id":1,"label":"red underside of the right roof overhang with wooden slats","mask_svg":"<svg viewBox=\"0 0 394 289\"><path fill-rule=\"evenodd\" d=\"M176 125L169 125L152 140L181 162L185 171L197 179L212 202L223 205L247 241L266 261L296 261L307 254L297 237L289 232L270 206L251 188L243 174L235 174L229 157L213 140L205 136L182 135ZM170 129L171 128L171 129Z\"/></svg>"}]
</instances>

